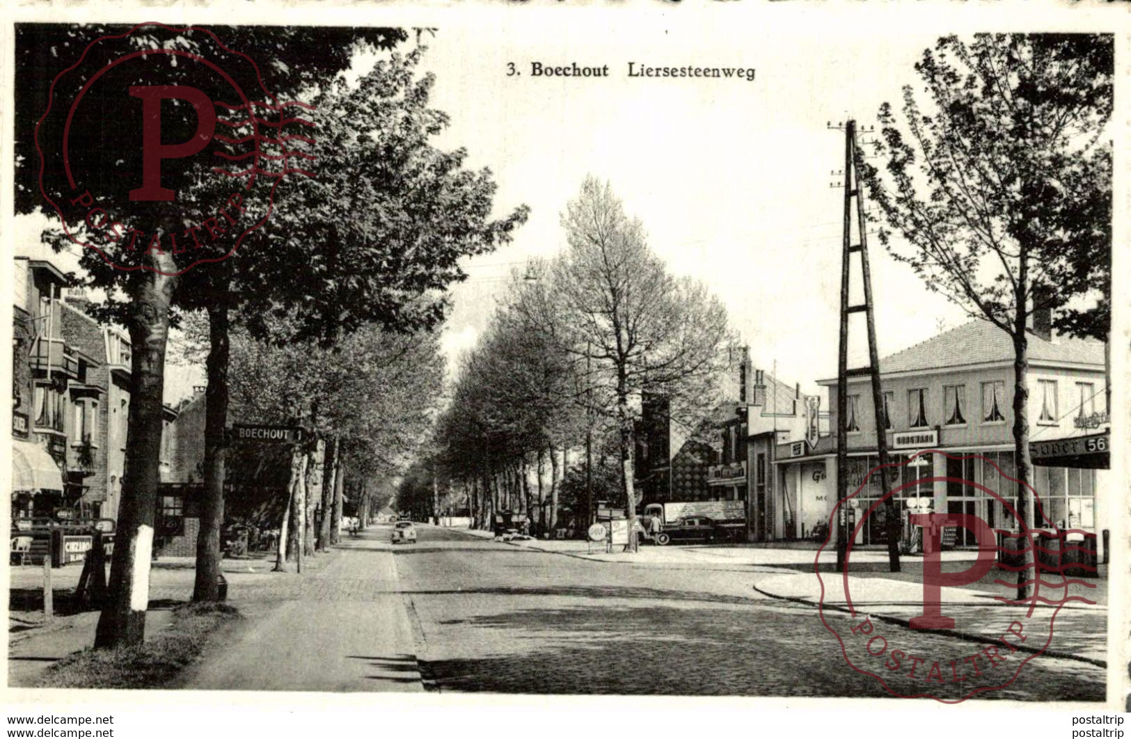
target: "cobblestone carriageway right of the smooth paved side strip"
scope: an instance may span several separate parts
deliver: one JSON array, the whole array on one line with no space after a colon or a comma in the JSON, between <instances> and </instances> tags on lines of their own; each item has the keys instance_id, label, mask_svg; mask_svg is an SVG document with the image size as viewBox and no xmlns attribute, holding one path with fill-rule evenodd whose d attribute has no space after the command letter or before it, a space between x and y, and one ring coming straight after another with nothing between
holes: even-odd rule
<instances>
[{"instance_id":1,"label":"cobblestone carriageway right of the smooth paved side strip","mask_svg":"<svg viewBox=\"0 0 1131 739\"><path fill-rule=\"evenodd\" d=\"M590 562L428 527L420 536L420 544L396 549L392 558L418 623L416 657L430 689L889 695L875 677L845 663L841 645L811 606L758 595L749 568ZM1003 661L991 667L985 644L888 624L875 627L873 636L882 640L872 650L890 651L871 657L864 652L869 637L851 634L855 621L828 618L846 635L854 663L901 695L955 699L1016 673L1008 687L978 697L1104 699L1104 670L1093 664L1042 657L1022 666L1030 655L1000 645ZM898 669L886 669L897 649ZM934 662L940 668L932 673Z\"/></svg>"}]
</instances>

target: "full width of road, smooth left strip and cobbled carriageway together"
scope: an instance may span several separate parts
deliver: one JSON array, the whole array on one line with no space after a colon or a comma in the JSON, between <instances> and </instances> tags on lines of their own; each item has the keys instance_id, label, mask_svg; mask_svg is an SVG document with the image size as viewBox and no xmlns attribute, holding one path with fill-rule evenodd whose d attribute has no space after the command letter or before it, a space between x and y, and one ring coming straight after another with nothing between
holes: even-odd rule
<instances>
[{"instance_id":1,"label":"full width of road, smooth left strip and cobbled carriageway together","mask_svg":"<svg viewBox=\"0 0 1131 739\"><path fill-rule=\"evenodd\" d=\"M260 594L239 603L247 626L184 687L888 695L845 664L813 608L759 597L749 567L601 563L418 530L418 544L391 547L388 528L372 529L274 600ZM848 625L837 624L841 632ZM882 660L862 653L863 641L849 650L862 664L872 659L866 666L898 693L958 697L973 685L927 684L924 670L942 660L949 681L946 660L984 645L883 629L891 649L927 659L914 679L906 668L882 669ZM1003 664L1016 669L1018 655ZM1003 673L995 685L1008 679L1005 669L995 668ZM1100 701L1104 675L1041 658L985 696Z\"/></svg>"}]
</instances>

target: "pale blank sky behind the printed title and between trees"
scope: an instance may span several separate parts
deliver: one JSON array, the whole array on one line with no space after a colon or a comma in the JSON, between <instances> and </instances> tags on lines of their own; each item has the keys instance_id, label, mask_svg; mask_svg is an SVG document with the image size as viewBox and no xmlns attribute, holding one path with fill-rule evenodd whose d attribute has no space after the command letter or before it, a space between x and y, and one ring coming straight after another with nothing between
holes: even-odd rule
<instances>
[{"instance_id":1,"label":"pale blank sky behind the printed title and between trees","mask_svg":"<svg viewBox=\"0 0 1131 739\"><path fill-rule=\"evenodd\" d=\"M754 364L815 390L835 376L838 340L844 134L827 124L874 122L915 81L935 35L751 33L714 26L465 24L425 36L432 105L451 116L439 145L465 147L490 167L497 216L520 203L529 220L513 243L466 260L442 329L449 371L486 325L508 275L564 245L559 217L587 174L607 180L642 220L672 272L703 281L727 306ZM709 43L708 43L709 42ZM355 72L373 58L355 60ZM508 76L508 62L518 72ZM607 78L535 78L530 63L607 64ZM740 79L629 78L640 66L733 66ZM37 246L38 216L16 218L17 253ZM76 247L77 249L77 247ZM870 242L881 356L967 320ZM75 255L55 258L66 269ZM858 286L854 287L858 293ZM854 329L856 322L853 323ZM861 364L863 322L851 364ZM191 393L202 368L171 367L166 400Z\"/></svg>"}]
</instances>

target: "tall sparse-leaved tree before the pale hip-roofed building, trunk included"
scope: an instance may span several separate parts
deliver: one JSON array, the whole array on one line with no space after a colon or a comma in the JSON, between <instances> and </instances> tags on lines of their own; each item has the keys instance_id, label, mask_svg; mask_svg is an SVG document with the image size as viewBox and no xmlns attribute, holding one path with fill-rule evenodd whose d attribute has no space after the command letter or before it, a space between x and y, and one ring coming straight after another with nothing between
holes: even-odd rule
<instances>
[{"instance_id":1,"label":"tall sparse-leaved tree before the pale hip-roofed building, trunk included","mask_svg":"<svg viewBox=\"0 0 1131 739\"><path fill-rule=\"evenodd\" d=\"M946 36L915 71L925 106L907 86L903 121L880 108L883 171L865 163L864 180L903 237L880 232L895 258L1012 341L1017 511L1029 527L1030 315L1062 308L1062 328L1108 330L1113 40ZM1025 549L1019 599L1035 576Z\"/></svg>"}]
</instances>

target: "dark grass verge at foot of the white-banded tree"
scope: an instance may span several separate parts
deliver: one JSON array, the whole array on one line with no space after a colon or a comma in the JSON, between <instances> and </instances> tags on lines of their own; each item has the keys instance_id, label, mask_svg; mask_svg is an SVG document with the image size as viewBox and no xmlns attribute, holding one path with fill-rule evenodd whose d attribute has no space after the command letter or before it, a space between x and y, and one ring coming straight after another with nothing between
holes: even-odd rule
<instances>
[{"instance_id":1,"label":"dark grass verge at foot of the white-banded tree","mask_svg":"<svg viewBox=\"0 0 1131 739\"><path fill-rule=\"evenodd\" d=\"M48 668L35 687L159 688L200 657L209 635L239 618L226 603L181 606L159 636L140 646L75 652Z\"/></svg>"}]
</instances>

